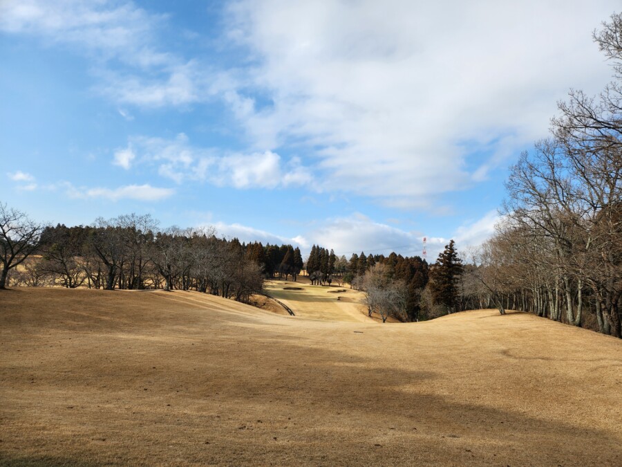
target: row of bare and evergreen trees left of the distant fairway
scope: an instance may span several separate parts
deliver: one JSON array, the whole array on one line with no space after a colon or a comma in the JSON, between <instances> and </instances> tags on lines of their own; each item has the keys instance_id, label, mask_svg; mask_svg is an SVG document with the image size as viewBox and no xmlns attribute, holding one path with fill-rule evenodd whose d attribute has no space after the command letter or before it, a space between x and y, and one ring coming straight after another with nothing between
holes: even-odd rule
<instances>
[{"instance_id":1,"label":"row of bare and evergreen trees left of the distant fairway","mask_svg":"<svg viewBox=\"0 0 622 467\"><path fill-rule=\"evenodd\" d=\"M291 245L241 244L211 228L158 225L149 214L128 214L92 226L43 226L0 203L0 289L194 289L247 303L264 277L295 280L303 267Z\"/></svg>"}]
</instances>

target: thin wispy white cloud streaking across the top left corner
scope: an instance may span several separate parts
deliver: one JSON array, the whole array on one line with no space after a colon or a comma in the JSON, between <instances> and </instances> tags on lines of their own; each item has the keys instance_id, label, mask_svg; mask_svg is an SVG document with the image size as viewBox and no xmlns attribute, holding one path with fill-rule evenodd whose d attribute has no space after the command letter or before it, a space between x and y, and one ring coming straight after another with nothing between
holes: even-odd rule
<instances>
[{"instance_id":1,"label":"thin wispy white cloud streaking across the top left corner","mask_svg":"<svg viewBox=\"0 0 622 467\"><path fill-rule=\"evenodd\" d=\"M117 0L0 2L0 31L35 35L93 59L95 89L122 104L184 105L209 97L218 73L165 51L167 16ZM119 62L114 62L118 60ZM120 66L121 65L121 66ZM133 116L119 109L126 120Z\"/></svg>"}]
</instances>

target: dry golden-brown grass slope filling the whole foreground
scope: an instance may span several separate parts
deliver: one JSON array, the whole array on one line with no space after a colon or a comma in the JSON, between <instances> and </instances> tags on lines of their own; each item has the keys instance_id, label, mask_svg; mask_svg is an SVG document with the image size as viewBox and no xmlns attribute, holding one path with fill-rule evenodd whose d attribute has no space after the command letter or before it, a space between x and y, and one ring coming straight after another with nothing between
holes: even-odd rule
<instances>
[{"instance_id":1,"label":"dry golden-brown grass slope filling the whole foreground","mask_svg":"<svg viewBox=\"0 0 622 467\"><path fill-rule=\"evenodd\" d=\"M525 313L0 291L2 464L621 465L622 342Z\"/></svg>"}]
</instances>

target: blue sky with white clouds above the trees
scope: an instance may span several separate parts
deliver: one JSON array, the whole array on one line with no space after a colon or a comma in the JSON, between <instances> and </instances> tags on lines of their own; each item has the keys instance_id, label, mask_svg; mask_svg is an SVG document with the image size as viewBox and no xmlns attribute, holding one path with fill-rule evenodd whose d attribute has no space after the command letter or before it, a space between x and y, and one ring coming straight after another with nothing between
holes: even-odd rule
<instances>
[{"instance_id":1,"label":"blue sky with white clouds above the trees","mask_svg":"<svg viewBox=\"0 0 622 467\"><path fill-rule=\"evenodd\" d=\"M0 201L338 255L487 239L619 1L0 0Z\"/></svg>"}]
</instances>

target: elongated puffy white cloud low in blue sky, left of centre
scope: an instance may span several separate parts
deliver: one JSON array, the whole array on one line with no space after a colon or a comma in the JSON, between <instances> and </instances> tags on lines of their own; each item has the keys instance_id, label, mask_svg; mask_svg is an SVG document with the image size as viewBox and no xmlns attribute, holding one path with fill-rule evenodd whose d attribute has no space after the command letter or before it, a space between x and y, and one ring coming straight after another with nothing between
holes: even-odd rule
<instances>
[{"instance_id":1,"label":"elongated puffy white cloud low in blue sky, left of centre","mask_svg":"<svg viewBox=\"0 0 622 467\"><path fill-rule=\"evenodd\" d=\"M310 185L313 181L310 170L301 165L299 158L284 162L272 151L220 154L216 149L194 147L185 134L178 134L172 140L130 138L128 147L115 153L115 163L129 168L130 161L155 164L161 176L176 183L195 180L239 189L273 189Z\"/></svg>"}]
</instances>

